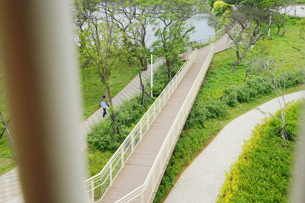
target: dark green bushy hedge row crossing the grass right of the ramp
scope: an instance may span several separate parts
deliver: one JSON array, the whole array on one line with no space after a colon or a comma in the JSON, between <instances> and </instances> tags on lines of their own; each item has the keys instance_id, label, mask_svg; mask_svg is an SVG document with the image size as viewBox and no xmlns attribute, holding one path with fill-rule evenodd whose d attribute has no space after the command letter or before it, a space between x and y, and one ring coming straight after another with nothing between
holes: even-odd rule
<instances>
[{"instance_id":1,"label":"dark green bushy hedge row crossing the grass right of the ramp","mask_svg":"<svg viewBox=\"0 0 305 203\"><path fill-rule=\"evenodd\" d=\"M287 86L295 86L305 82L305 71L294 72L288 77ZM204 126L206 119L218 118L222 120L227 113L228 106L236 107L239 103L252 101L257 96L269 95L272 90L270 86L266 86L266 79L257 77L248 80L241 86L231 86L224 89L223 94L216 100L208 102L197 101L194 103L188 118L185 121L184 128L194 126Z\"/></svg>"}]
</instances>

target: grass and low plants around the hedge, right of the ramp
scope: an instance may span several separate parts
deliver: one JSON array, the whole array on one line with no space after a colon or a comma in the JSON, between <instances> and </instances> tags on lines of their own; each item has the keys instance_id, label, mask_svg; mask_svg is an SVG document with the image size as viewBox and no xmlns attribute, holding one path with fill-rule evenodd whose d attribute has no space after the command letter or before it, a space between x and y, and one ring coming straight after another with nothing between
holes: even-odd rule
<instances>
[{"instance_id":1,"label":"grass and low plants around the hedge, right of the ramp","mask_svg":"<svg viewBox=\"0 0 305 203\"><path fill-rule=\"evenodd\" d=\"M277 37L277 29L275 27L272 28L271 36L274 38L274 40L272 40L273 44L269 56L275 57L275 62L286 70L293 71L304 68L304 56L291 48L291 43L293 42L298 44L302 43L297 40L298 38L296 33L298 32L298 28L296 26L287 25L287 31L284 37ZM235 58L236 55L234 48L214 55L212 64L206 74L196 100L207 101L210 98L217 98L222 94L224 88L227 88L231 85L240 85L242 83L242 80L245 77L245 67L240 64L235 69L234 73L230 71ZM253 77L255 76L250 75L250 78ZM304 89L304 85L299 85L287 89L286 93L288 94ZM210 119L206 121L203 128L183 130L180 135L181 137L179 138L181 143L178 141L179 145L176 145L176 148L180 149L175 148L174 153L177 152L184 154L183 156L187 158L183 158L181 156L180 159L183 159L183 161L176 161L174 159L177 159L179 155L175 156L173 153L174 156L172 155L169 165L167 166L170 168L170 171L168 172L169 174L167 174L167 176L163 176L162 183L160 184L154 202L160 202L162 199L164 200L166 198L166 194L168 194L171 187L174 185L175 180L178 179L179 174L181 174L181 170L183 170L185 166L192 162L192 160L199 154L199 152L202 151L208 145L208 143L210 143L211 140L213 140L217 133L226 124L228 124L234 118L246 113L247 111L259 106L262 103L267 102L274 97L276 96L271 95L270 97L259 97L249 103L239 104L235 108L229 107L228 114L223 120L220 121L218 119ZM195 137L196 139L200 139L201 143L192 142L192 139L195 139ZM182 141L183 139L189 141L184 142ZM191 148L199 150L193 151Z\"/></svg>"}]
</instances>

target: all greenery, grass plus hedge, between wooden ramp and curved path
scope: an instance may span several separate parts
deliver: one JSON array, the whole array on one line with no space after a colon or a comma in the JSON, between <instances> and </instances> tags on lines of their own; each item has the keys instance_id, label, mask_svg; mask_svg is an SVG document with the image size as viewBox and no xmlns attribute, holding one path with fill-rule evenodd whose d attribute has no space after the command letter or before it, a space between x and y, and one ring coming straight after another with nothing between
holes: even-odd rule
<instances>
[{"instance_id":1,"label":"all greenery, grass plus hedge, between wooden ramp and curved path","mask_svg":"<svg viewBox=\"0 0 305 203\"><path fill-rule=\"evenodd\" d=\"M286 89L288 94L304 89L304 72L302 71L304 56L288 47L291 41L300 45L303 43L297 38L296 33L299 32L297 26L294 23L288 23L286 28L284 37L276 37L277 27L271 27L271 35L274 39L269 55L275 57L276 63L280 64L285 71L290 71L294 75L290 78L291 86ZM259 75L250 75L249 81L243 82L246 75L244 61L239 63L235 72L232 73L231 68L235 57L234 48L214 55L167 165L154 202L162 202L166 198L181 170L191 163L226 124L276 97L261 84ZM302 75L300 80L297 79L301 84L295 83L295 78L299 78L298 75Z\"/></svg>"}]
</instances>

